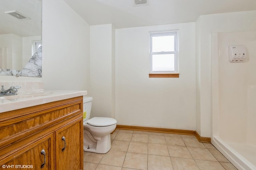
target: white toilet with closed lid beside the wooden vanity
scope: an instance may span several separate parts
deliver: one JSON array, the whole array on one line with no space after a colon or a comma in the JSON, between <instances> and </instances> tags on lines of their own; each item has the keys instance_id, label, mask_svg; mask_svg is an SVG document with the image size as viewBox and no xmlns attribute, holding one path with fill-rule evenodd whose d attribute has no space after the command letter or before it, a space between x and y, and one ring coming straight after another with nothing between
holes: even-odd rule
<instances>
[{"instance_id":1,"label":"white toilet with closed lid beside the wooden vanity","mask_svg":"<svg viewBox=\"0 0 256 170\"><path fill-rule=\"evenodd\" d=\"M84 151L106 153L111 148L110 133L116 129L116 119L90 118L92 97L84 96Z\"/></svg>"}]
</instances>

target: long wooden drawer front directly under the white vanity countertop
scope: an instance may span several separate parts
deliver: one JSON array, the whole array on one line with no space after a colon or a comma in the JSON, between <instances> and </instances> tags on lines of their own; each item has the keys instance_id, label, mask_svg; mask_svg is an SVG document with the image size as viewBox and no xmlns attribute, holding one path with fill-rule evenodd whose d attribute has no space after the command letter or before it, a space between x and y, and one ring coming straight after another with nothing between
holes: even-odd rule
<instances>
[{"instance_id":1,"label":"long wooden drawer front directly under the white vanity countertop","mask_svg":"<svg viewBox=\"0 0 256 170\"><path fill-rule=\"evenodd\" d=\"M0 146L5 147L14 141L82 112L81 98L72 98L72 100L68 99L53 103L57 105L50 103L0 113ZM34 111L35 109L36 111ZM5 119L1 119L6 114L8 116Z\"/></svg>"}]
</instances>

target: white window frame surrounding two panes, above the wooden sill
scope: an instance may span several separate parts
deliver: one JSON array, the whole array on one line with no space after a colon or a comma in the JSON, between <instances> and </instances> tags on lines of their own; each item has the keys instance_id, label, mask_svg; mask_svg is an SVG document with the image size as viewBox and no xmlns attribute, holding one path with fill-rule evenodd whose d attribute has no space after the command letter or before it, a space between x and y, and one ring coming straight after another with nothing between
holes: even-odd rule
<instances>
[{"instance_id":1,"label":"white window frame surrounding two panes, above the wooden sill","mask_svg":"<svg viewBox=\"0 0 256 170\"><path fill-rule=\"evenodd\" d=\"M174 51L152 52L152 37L174 35ZM152 56L157 54L174 54L174 71L152 71ZM178 74L178 30L150 32L150 74Z\"/></svg>"}]
</instances>

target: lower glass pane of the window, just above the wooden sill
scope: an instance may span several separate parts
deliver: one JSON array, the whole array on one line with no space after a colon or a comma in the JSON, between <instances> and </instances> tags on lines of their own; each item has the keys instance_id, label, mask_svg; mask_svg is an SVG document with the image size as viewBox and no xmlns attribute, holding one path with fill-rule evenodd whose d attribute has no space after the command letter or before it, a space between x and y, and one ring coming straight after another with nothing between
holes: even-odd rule
<instances>
[{"instance_id":1,"label":"lower glass pane of the window, just above the wooden sill","mask_svg":"<svg viewBox=\"0 0 256 170\"><path fill-rule=\"evenodd\" d=\"M174 54L152 55L152 71L174 71Z\"/></svg>"}]
</instances>

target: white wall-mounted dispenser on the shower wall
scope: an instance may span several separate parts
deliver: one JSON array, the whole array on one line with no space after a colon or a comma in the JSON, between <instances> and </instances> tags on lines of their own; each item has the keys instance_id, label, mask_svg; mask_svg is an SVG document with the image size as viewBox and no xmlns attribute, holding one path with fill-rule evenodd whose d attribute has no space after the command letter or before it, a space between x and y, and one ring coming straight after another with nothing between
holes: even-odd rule
<instances>
[{"instance_id":1,"label":"white wall-mounted dispenser on the shower wall","mask_svg":"<svg viewBox=\"0 0 256 170\"><path fill-rule=\"evenodd\" d=\"M229 46L229 62L238 63L246 59L246 48L244 45L230 45Z\"/></svg>"}]
</instances>

